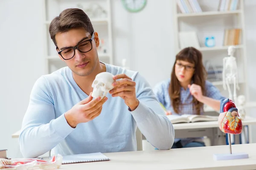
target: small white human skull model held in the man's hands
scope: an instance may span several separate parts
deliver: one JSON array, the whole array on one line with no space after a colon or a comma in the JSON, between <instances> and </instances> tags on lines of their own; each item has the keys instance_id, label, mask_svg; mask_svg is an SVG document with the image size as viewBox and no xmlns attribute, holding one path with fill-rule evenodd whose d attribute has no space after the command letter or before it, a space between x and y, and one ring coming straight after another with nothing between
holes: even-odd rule
<instances>
[{"instance_id":1,"label":"small white human skull model held in the man's hands","mask_svg":"<svg viewBox=\"0 0 256 170\"><path fill-rule=\"evenodd\" d=\"M94 98L97 98L99 96L101 98L105 97L107 93L114 88L112 85L113 82L115 82L115 80L113 79L113 74L108 72L102 72L97 74L92 84L92 96Z\"/></svg>"}]
</instances>

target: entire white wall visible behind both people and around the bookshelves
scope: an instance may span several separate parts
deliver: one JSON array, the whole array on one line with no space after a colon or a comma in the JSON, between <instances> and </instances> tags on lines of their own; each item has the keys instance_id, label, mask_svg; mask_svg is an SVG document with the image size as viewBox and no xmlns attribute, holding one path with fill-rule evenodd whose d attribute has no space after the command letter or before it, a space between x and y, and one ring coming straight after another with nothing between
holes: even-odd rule
<instances>
[{"instance_id":1,"label":"entire white wall visible behind both people and around the bookshelves","mask_svg":"<svg viewBox=\"0 0 256 170\"><path fill-rule=\"evenodd\" d=\"M126 58L128 66L152 86L169 78L175 58L171 0L148 0L145 9L135 14L125 11L121 0L113 0L112 8L115 65ZM255 8L255 0L245 0L250 99L254 100ZM11 135L20 129L31 88L44 74L42 10L41 0L0 0L0 148L7 148L12 158L20 153L18 140Z\"/></svg>"}]
</instances>

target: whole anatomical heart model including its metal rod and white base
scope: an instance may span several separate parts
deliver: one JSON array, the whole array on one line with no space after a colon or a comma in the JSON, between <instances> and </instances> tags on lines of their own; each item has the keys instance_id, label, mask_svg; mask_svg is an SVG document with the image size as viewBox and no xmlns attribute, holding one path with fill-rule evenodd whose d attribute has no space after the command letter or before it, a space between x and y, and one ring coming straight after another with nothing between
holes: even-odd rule
<instances>
[{"instance_id":1,"label":"whole anatomical heart model including its metal rod and white base","mask_svg":"<svg viewBox=\"0 0 256 170\"><path fill-rule=\"evenodd\" d=\"M230 99L221 99L221 112L227 112L221 122L221 131L228 134L230 153L214 154L215 160L231 160L231 159L246 159L249 158L247 153L233 153L230 134L240 134L242 132L242 121L238 116L232 116L232 112L238 112L235 103Z\"/></svg>"}]
</instances>

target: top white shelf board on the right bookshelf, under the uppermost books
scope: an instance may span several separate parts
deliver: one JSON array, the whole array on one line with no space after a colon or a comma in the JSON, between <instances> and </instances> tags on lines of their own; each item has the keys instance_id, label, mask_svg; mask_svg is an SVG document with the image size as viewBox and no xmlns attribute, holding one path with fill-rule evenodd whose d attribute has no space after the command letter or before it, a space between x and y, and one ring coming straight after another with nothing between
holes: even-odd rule
<instances>
[{"instance_id":1,"label":"top white shelf board on the right bookshelf, under the uppermost books","mask_svg":"<svg viewBox=\"0 0 256 170\"><path fill-rule=\"evenodd\" d=\"M177 14L177 17L198 17L198 16L212 16L212 15L225 15L225 14L240 14L241 10L234 11L205 11L199 13L187 13L187 14Z\"/></svg>"}]
</instances>

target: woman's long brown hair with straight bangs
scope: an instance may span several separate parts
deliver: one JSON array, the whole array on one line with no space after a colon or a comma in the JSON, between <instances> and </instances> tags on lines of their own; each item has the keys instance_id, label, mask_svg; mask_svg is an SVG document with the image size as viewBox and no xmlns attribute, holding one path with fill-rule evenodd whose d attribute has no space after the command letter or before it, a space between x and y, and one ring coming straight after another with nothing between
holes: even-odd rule
<instances>
[{"instance_id":1,"label":"woman's long brown hair with straight bangs","mask_svg":"<svg viewBox=\"0 0 256 170\"><path fill-rule=\"evenodd\" d=\"M202 62L202 53L198 51L194 47L187 47L181 50L175 59L175 63L177 60L183 60L195 64L195 70L192 77L192 81L196 85L200 85L202 89L202 94L205 95L205 80L207 77L207 71L204 68ZM175 63L172 67L172 74L171 74L171 82L169 85L169 95L172 103L172 107L176 113L180 113L180 82L175 75ZM193 96L193 110L196 110L196 113L199 115L200 110L203 107L203 103L199 102Z\"/></svg>"}]
</instances>

